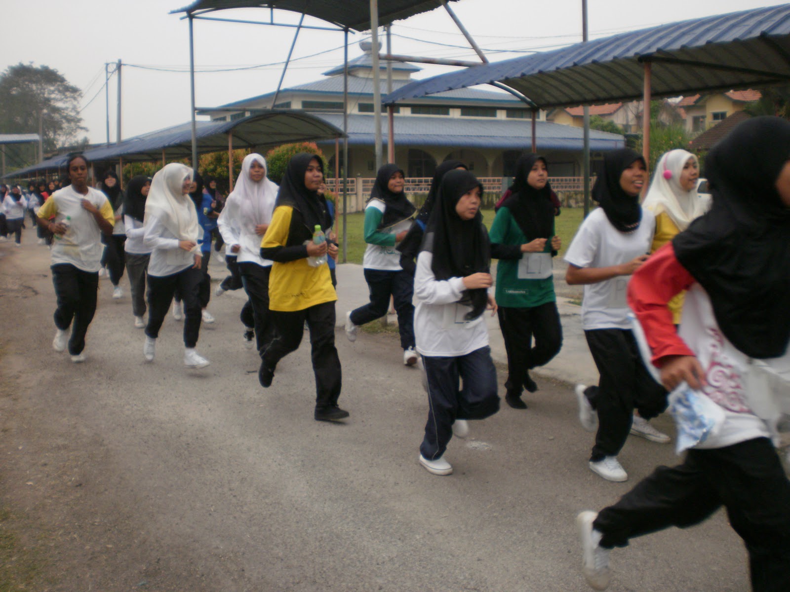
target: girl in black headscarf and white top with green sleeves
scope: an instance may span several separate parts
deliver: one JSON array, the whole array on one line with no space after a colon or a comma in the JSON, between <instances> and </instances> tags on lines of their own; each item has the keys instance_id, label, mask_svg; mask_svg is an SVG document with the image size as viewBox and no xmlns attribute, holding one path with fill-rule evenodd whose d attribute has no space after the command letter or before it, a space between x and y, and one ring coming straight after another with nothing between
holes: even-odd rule
<instances>
[{"instance_id":1,"label":"girl in black headscarf and white top with green sleeves","mask_svg":"<svg viewBox=\"0 0 790 592\"><path fill-rule=\"evenodd\" d=\"M414 365L414 294L412 274L401 268L401 255L394 247L403 240L411 226L416 208L404 193L404 173L397 164L385 164L378 170L371 197L365 208L365 242L363 272L371 302L346 313L346 336L355 341L359 325L384 317L389 298L397 312L401 334L403 363Z\"/></svg>"}]
</instances>

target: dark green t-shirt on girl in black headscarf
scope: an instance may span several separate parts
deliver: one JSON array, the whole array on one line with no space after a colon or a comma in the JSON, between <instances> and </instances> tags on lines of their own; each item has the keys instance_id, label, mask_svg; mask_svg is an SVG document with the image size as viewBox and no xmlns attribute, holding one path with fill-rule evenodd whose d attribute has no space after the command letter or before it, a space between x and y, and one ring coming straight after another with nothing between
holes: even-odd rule
<instances>
[{"instance_id":1,"label":"dark green t-shirt on girl in black headscarf","mask_svg":"<svg viewBox=\"0 0 790 592\"><path fill-rule=\"evenodd\" d=\"M551 223L551 235L554 235ZM499 208L489 231L492 244L523 245L527 241L509 208ZM535 257L537 256L537 257ZM525 257L529 258L529 262ZM519 277L521 275L521 278ZM529 279L533 275L540 279ZM545 275L545 277L543 277ZM523 279L522 279L523 278ZM551 241L543 253L522 253L519 259L500 259L496 268L496 303L510 308L530 308L555 302L551 273Z\"/></svg>"}]
</instances>

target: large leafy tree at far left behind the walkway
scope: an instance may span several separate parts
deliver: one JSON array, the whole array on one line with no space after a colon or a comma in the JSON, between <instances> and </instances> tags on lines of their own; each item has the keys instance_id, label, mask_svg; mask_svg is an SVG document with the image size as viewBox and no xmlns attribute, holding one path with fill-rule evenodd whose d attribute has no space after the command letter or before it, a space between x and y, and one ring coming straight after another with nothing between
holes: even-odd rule
<instances>
[{"instance_id":1,"label":"large leafy tree at far left behind the walkway","mask_svg":"<svg viewBox=\"0 0 790 592\"><path fill-rule=\"evenodd\" d=\"M41 130L44 152L77 144L77 134L86 130L79 111L81 96L79 88L49 66L9 66L0 74L0 133ZM30 152L21 154L29 160Z\"/></svg>"}]
</instances>

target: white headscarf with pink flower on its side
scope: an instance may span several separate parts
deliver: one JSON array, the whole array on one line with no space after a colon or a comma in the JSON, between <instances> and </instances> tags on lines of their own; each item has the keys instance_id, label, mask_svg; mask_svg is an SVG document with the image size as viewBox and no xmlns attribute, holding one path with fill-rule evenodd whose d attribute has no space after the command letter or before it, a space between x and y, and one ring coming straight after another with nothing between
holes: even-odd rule
<instances>
[{"instance_id":1,"label":"white headscarf with pink flower on its side","mask_svg":"<svg viewBox=\"0 0 790 592\"><path fill-rule=\"evenodd\" d=\"M661 156L642 203L643 208L655 215L666 213L681 232L692 220L704 214L709 205L698 197L696 186L690 191L680 186L680 175L689 159L698 163L697 157L686 150L670 150Z\"/></svg>"}]
</instances>

